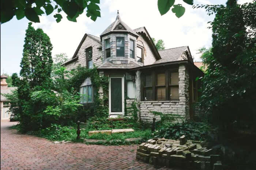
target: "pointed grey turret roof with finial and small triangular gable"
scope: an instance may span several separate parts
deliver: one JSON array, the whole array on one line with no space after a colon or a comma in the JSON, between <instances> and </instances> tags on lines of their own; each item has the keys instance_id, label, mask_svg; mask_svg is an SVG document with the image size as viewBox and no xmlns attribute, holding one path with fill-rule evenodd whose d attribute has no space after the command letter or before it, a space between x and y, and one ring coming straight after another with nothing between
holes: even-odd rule
<instances>
[{"instance_id":1,"label":"pointed grey turret roof with finial and small triangular gable","mask_svg":"<svg viewBox=\"0 0 256 170\"><path fill-rule=\"evenodd\" d=\"M121 18L120 18L120 15L119 15L119 12L117 11L117 16L116 16L116 20L112 23L112 24L110 24L109 26L108 26L108 28L106 28L105 29L105 31L103 31L102 33L101 33L101 37L103 36L103 35L107 35L107 34L110 34L111 32L113 32L113 33L117 33L117 32L127 32L127 33L129 33L129 34L131 34L131 35L133 35L133 36L136 36L136 37L138 37L139 35L135 32L135 31L133 31L133 29L131 29L127 24L125 24L122 20L121 20Z\"/></svg>"}]
</instances>

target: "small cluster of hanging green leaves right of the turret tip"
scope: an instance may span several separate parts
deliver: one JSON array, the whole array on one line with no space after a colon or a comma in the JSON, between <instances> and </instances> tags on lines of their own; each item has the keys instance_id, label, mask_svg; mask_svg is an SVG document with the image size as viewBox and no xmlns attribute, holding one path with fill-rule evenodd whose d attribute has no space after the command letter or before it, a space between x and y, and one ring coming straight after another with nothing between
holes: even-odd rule
<instances>
[{"instance_id":1,"label":"small cluster of hanging green leaves right of the turret tip","mask_svg":"<svg viewBox=\"0 0 256 170\"><path fill-rule=\"evenodd\" d=\"M183 0L185 3L189 5L193 5L193 0ZM185 13L185 8L182 7L181 4L174 5L175 0L158 0L157 6L161 15L165 15L170 8L172 8L172 12L179 18Z\"/></svg>"}]
</instances>

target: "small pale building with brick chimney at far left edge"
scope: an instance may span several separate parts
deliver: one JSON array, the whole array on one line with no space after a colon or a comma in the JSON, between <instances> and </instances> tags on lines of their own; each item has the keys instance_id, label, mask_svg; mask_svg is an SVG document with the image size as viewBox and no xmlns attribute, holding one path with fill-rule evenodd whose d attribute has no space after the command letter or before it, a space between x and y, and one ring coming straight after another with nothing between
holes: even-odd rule
<instances>
[{"instance_id":1,"label":"small pale building with brick chimney at far left edge","mask_svg":"<svg viewBox=\"0 0 256 170\"><path fill-rule=\"evenodd\" d=\"M10 103L2 94L11 93L17 87L8 87L6 79L8 76L1 76L1 120L10 120L10 114L8 113Z\"/></svg>"}]
</instances>

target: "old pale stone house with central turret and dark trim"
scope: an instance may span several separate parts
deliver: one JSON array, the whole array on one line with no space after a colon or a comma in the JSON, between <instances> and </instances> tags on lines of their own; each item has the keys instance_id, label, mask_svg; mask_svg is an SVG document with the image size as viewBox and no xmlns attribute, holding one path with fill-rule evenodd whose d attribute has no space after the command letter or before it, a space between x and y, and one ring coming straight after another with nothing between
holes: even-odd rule
<instances>
[{"instance_id":1,"label":"old pale stone house with central turret and dark trim","mask_svg":"<svg viewBox=\"0 0 256 170\"><path fill-rule=\"evenodd\" d=\"M194 65L189 47L157 51L147 29L131 29L119 13L100 37L86 33L63 65L71 70L79 64L87 68L94 64L99 74L109 77L110 117L124 115L125 103L129 107L135 100L143 121L152 121L151 111L187 119L194 115L199 87L195 78L203 72ZM102 88L98 92L102 94ZM93 103L90 78L81 84L80 93L88 96L81 103Z\"/></svg>"}]
</instances>

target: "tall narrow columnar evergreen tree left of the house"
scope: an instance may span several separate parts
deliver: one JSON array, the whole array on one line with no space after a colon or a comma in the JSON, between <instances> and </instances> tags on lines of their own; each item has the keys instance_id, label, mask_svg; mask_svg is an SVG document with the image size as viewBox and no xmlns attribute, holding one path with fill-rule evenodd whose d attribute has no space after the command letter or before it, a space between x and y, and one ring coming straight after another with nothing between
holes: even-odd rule
<instances>
[{"instance_id":1,"label":"tall narrow columnar evergreen tree left of the house","mask_svg":"<svg viewBox=\"0 0 256 170\"><path fill-rule=\"evenodd\" d=\"M32 100L31 94L33 91L49 90L53 63L50 38L42 29L35 30L31 24L29 23L26 30L23 58L20 63L22 79L18 86L18 117L23 131L38 129L45 121L42 112L48 103Z\"/></svg>"}]
</instances>

